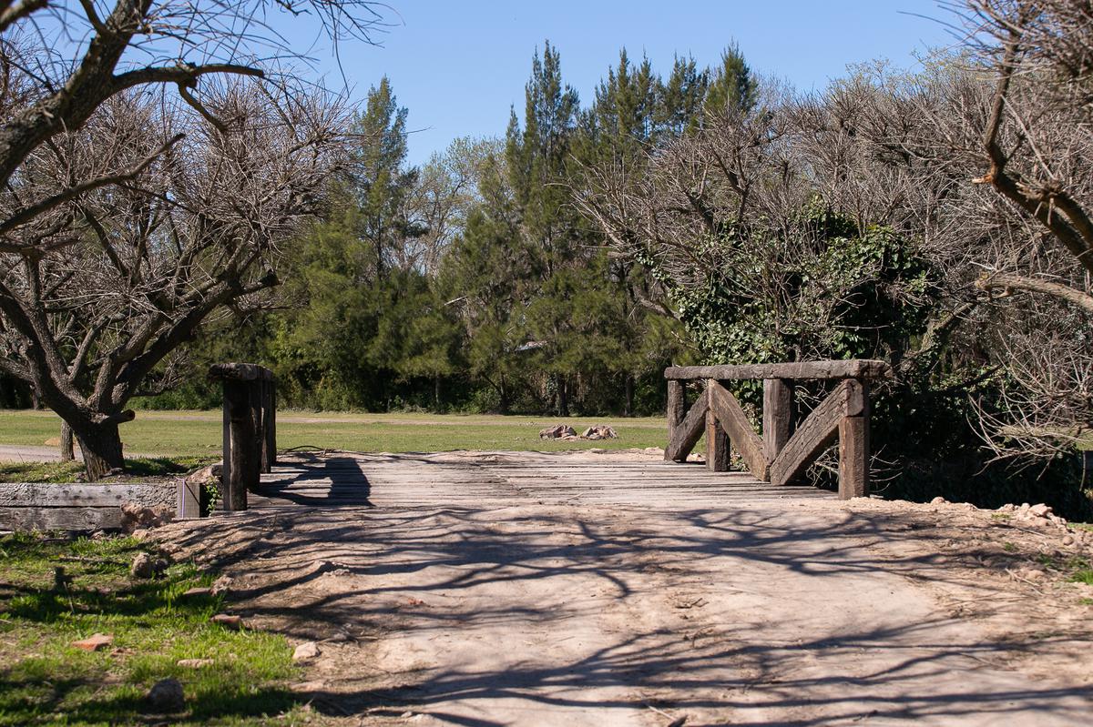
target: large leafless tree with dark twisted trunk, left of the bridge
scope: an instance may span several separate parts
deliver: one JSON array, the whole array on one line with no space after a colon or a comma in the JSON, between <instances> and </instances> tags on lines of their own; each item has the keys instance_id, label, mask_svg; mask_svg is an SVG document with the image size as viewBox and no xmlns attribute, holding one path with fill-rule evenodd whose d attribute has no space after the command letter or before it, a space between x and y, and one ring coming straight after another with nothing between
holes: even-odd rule
<instances>
[{"instance_id":1,"label":"large leafless tree with dark twisted trunk, left of the bridge","mask_svg":"<svg viewBox=\"0 0 1093 727\"><path fill-rule=\"evenodd\" d=\"M266 4L0 3L0 368L92 478L124 465L125 405L173 382L178 346L277 284L341 163L344 109L278 74ZM336 41L380 22L364 0L275 4Z\"/></svg>"}]
</instances>

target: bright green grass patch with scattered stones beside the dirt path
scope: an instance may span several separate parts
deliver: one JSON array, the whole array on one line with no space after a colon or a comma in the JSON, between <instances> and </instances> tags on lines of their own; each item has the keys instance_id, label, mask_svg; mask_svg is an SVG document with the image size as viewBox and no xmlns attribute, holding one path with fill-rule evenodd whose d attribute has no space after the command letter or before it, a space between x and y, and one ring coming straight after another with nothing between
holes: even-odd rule
<instances>
[{"instance_id":1,"label":"bright green grass patch with scattered stones beside the dirt path","mask_svg":"<svg viewBox=\"0 0 1093 727\"><path fill-rule=\"evenodd\" d=\"M286 687L298 676L289 643L210 623L220 597L181 598L213 577L192 564L131 579L140 550L132 538L0 537L0 727L167 724L144 701L167 677L183 682L187 703L169 724L301 724ZM94 653L71 645L95 632L114 643ZM213 664L178 666L184 658Z\"/></svg>"}]
</instances>

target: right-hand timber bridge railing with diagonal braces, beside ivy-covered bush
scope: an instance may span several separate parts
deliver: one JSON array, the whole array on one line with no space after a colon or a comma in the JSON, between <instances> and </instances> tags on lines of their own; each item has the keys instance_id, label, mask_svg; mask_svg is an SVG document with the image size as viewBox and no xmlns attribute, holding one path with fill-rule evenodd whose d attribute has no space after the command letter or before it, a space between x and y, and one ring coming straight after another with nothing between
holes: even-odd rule
<instances>
[{"instance_id":1,"label":"right-hand timber bridge railing with diagonal braces, beside ivy-covered bush","mask_svg":"<svg viewBox=\"0 0 1093 727\"><path fill-rule=\"evenodd\" d=\"M684 462L706 436L706 467L729 468L734 448L749 472L772 485L803 476L838 439L838 497L869 494L869 382L888 377L884 361L844 360L740 366L673 366L668 379L668 448L665 458ZM737 398L721 382L763 380L763 432L757 434ZM830 394L800 422L794 420L794 384L836 380ZM687 408L686 381L705 389ZM796 427L795 427L796 424Z\"/></svg>"}]
</instances>

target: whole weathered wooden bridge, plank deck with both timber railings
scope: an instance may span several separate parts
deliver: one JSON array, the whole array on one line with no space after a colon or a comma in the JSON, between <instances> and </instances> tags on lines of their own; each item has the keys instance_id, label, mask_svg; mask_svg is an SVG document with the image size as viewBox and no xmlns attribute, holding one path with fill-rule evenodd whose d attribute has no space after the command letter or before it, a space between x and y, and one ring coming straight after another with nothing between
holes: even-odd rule
<instances>
[{"instance_id":1,"label":"whole weathered wooden bridge, plank deck with both timber railings","mask_svg":"<svg viewBox=\"0 0 1093 727\"><path fill-rule=\"evenodd\" d=\"M832 497L799 481L836 439L838 497L861 497L869 491L869 381L888 372L885 364L871 360L669 368L663 462L537 452L325 452L274 462L271 374L249 365L220 365L211 373L225 381L223 504L226 510L461 502L716 508L730 501ZM724 384L742 379L763 380L762 434ZM835 383L798 421L794 388L801 380ZM690 409L686 382L703 385ZM705 465L687 463L704 434ZM730 448L748 472L728 472Z\"/></svg>"}]
</instances>

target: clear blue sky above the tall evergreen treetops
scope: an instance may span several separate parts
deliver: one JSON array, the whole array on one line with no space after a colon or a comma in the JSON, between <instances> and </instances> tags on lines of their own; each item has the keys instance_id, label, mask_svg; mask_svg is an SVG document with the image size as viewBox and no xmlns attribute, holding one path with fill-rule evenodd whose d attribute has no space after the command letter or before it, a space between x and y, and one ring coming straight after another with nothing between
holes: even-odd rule
<instances>
[{"instance_id":1,"label":"clear blue sky above the tall evergreen treetops","mask_svg":"<svg viewBox=\"0 0 1093 727\"><path fill-rule=\"evenodd\" d=\"M819 90L847 63L886 58L909 68L916 51L952 43L935 0L387 1L391 26L377 35L381 47L342 45L342 69L359 98L390 78L410 109L414 164L456 136L504 133L509 107L522 110L531 57L544 38L561 52L563 76L581 104L622 47L631 58L646 53L663 73L677 53L713 65L736 40L760 73ZM340 85L329 44L312 56L327 83Z\"/></svg>"}]
</instances>

